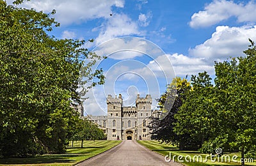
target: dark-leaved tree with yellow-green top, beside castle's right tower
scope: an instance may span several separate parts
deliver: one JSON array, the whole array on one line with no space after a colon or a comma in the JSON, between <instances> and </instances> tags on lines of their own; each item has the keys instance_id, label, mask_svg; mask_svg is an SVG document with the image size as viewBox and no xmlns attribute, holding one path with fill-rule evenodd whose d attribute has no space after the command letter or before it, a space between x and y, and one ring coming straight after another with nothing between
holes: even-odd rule
<instances>
[{"instance_id":1,"label":"dark-leaved tree with yellow-green top, beside castle's right tower","mask_svg":"<svg viewBox=\"0 0 256 166\"><path fill-rule=\"evenodd\" d=\"M159 99L159 111L164 112L166 116L164 119L151 117L150 130L152 130L152 139L161 140L172 144L179 144L180 149L184 147L186 142L185 135L177 135L173 128L177 122L174 118L180 106L186 98L186 91L191 88L188 80L176 77L172 83L168 85L166 92L161 95ZM174 100L174 102L173 102Z\"/></svg>"}]
</instances>

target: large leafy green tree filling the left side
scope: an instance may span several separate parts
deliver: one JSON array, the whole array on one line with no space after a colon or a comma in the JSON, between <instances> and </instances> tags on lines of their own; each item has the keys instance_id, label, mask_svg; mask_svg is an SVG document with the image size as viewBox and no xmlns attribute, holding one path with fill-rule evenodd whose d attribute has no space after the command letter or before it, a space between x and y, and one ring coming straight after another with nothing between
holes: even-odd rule
<instances>
[{"instance_id":1,"label":"large leafy green tree filling the left side","mask_svg":"<svg viewBox=\"0 0 256 166\"><path fill-rule=\"evenodd\" d=\"M81 102L77 87L93 77L103 83L102 70L90 70L99 57L83 48L86 41L47 34L60 26L54 13L0 0L0 156L63 153L78 118L70 107Z\"/></svg>"}]
</instances>

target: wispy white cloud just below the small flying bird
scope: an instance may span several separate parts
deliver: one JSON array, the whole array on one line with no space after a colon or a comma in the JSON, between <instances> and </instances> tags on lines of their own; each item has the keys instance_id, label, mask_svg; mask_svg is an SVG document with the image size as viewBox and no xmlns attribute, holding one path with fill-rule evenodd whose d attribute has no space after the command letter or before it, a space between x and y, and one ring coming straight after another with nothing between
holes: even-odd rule
<instances>
[{"instance_id":1,"label":"wispy white cloud just below the small flying bird","mask_svg":"<svg viewBox=\"0 0 256 166\"><path fill-rule=\"evenodd\" d=\"M125 14L113 14L113 16L103 24L100 29L100 34L95 40L97 44L118 36L141 34L138 30L138 24Z\"/></svg>"}]
</instances>

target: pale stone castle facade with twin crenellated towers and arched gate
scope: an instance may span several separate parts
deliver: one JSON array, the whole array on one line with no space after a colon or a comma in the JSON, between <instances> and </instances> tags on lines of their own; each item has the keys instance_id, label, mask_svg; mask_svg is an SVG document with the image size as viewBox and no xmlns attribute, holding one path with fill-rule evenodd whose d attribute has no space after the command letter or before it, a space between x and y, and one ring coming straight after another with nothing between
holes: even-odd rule
<instances>
[{"instance_id":1,"label":"pale stone castle facade with twin crenellated towers and arched gate","mask_svg":"<svg viewBox=\"0 0 256 166\"><path fill-rule=\"evenodd\" d=\"M150 140L150 116L152 116L152 97L145 98L137 95L135 107L124 107L122 94L106 98L108 116L91 116L87 119L94 121L107 134L108 140Z\"/></svg>"}]
</instances>

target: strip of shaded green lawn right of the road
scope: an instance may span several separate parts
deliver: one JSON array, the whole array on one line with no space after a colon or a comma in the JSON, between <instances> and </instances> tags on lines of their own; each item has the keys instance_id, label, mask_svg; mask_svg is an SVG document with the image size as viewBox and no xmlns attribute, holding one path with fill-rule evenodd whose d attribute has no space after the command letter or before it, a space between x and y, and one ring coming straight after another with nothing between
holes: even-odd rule
<instances>
[{"instance_id":1,"label":"strip of shaded green lawn right of the road","mask_svg":"<svg viewBox=\"0 0 256 166\"><path fill-rule=\"evenodd\" d=\"M241 160L241 154L240 153L228 153L228 154L224 154L224 155L228 155L230 156L230 162L225 162L225 158L223 158L223 162L221 162L221 158L219 158L219 162L218 162L218 158L215 157L216 162L212 162L211 158L208 157L207 158L207 162L204 162L205 160L205 154L201 154L198 151L180 151L176 146L171 146L169 144L161 144L160 142L158 142L157 140L138 140L138 143L140 143L141 145L147 147L148 149L155 151L156 153L159 153L160 155L166 156L169 155L170 153L172 155L172 158L174 155L175 156L175 161L178 162L178 158L177 156L182 155L184 156L182 159L180 160L184 160L184 162L180 162L184 165L241 165L240 160ZM185 157L189 155L191 156L191 162L186 162ZM200 155L202 156L202 161L203 162L193 162L193 157L195 155ZM239 162L232 162L232 156L237 155L238 158L236 158L237 161ZM187 158L189 160L189 158ZM163 158L164 160L164 158ZM212 160L214 160L214 158L212 158ZM195 158L195 161L197 161L197 158ZM256 160L250 163L246 163L246 165L256 165Z\"/></svg>"}]
</instances>

